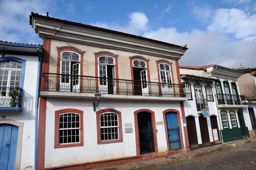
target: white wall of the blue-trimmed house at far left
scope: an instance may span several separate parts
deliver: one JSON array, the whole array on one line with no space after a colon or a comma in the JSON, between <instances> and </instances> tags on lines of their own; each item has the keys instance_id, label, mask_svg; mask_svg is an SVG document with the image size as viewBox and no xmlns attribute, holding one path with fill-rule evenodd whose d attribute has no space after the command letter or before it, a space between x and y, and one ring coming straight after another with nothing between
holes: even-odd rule
<instances>
[{"instance_id":1,"label":"white wall of the blue-trimmed house at far left","mask_svg":"<svg viewBox=\"0 0 256 170\"><path fill-rule=\"evenodd\" d=\"M6 57L17 57L26 60L24 75L22 108L23 111L0 111L0 119L6 116L6 119L24 122L22 136L22 150L20 160L20 170L32 166L35 168L35 97L36 83L38 73L38 57L6 55Z\"/></svg>"}]
</instances>

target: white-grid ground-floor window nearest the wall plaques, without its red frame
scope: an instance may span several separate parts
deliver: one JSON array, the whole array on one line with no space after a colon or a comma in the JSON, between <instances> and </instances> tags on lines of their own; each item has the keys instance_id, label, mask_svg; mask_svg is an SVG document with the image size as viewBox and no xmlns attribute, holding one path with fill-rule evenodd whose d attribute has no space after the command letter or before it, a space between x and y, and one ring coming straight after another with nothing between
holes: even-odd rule
<instances>
[{"instance_id":1,"label":"white-grid ground-floor window nearest the wall plaques, without its red frame","mask_svg":"<svg viewBox=\"0 0 256 170\"><path fill-rule=\"evenodd\" d=\"M119 139L118 128L117 113L105 112L100 114L101 141Z\"/></svg>"}]
</instances>

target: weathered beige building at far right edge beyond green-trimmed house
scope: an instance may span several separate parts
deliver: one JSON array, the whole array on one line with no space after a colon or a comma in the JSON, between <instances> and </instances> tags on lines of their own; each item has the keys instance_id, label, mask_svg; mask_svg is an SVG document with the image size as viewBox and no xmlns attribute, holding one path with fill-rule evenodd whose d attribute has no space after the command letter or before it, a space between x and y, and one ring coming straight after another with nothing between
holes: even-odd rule
<instances>
[{"instance_id":1,"label":"weathered beige building at far right edge beyond green-trimmed house","mask_svg":"<svg viewBox=\"0 0 256 170\"><path fill-rule=\"evenodd\" d=\"M239 90L247 100L250 121L253 130L256 132L256 68L242 68L238 70L245 73L238 78Z\"/></svg>"}]
</instances>

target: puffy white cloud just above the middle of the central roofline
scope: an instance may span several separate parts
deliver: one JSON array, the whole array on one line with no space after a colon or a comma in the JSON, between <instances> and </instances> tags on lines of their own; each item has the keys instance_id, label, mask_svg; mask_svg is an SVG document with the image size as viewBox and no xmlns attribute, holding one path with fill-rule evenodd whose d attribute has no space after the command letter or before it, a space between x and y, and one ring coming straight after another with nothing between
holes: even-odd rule
<instances>
[{"instance_id":1,"label":"puffy white cloud just above the middle of the central roofline","mask_svg":"<svg viewBox=\"0 0 256 170\"><path fill-rule=\"evenodd\" d=\"M118 23L91 23L90 25L101 27L101 28L108 28L116 31L125 32L128 34L135 34L138 35L144 31L148 30L148 18L142 12L133 12L129 16L130 20L129 23L125 26L120 26Z\"/></svg>"}]
</instances>

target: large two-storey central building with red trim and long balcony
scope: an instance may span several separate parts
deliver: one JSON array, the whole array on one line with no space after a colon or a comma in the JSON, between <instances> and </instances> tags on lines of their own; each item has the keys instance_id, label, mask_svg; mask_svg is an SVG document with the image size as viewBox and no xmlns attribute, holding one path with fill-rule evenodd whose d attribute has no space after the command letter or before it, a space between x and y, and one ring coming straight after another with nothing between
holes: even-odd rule
<instances>
[{"instance_id":1,"label":"large two-storey central building with red trim and long balcony","mask_svg":"<svg viewBox=\"0 0 256 170\"><path fill-rule=\"evenodd\" d=\"M38 169L189 151L186 47L34 13L30 24L44 40Z\"/></svg>"}]
</instances>

